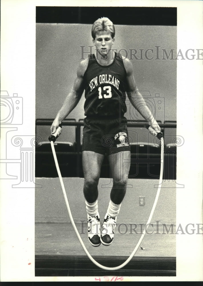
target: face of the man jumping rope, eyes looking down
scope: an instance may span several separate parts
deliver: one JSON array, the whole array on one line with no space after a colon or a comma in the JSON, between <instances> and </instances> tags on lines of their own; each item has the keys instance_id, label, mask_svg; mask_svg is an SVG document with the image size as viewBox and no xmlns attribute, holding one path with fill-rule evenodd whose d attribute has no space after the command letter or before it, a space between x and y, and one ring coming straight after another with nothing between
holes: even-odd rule
<instances>
[{"instance_id":1,"label":"face of the man jumping rope, eyes looking down","mask_svg":"<svg viewBox=\"0 0 203 286\"><path fill-rule=\"evenodd\" d=\"M101 31L96 34L93 43L97 51L105 57L109 53L114 43L114 38L112 39L111 33L109 31Z\"/></svg>"}]
</instances>

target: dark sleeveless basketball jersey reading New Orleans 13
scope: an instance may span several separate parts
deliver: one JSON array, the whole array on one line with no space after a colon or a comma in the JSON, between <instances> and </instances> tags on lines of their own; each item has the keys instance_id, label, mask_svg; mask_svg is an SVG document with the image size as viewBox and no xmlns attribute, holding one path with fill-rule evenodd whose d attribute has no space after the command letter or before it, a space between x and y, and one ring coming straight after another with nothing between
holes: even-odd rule
<instances>
[{"instance_id":1,"label":"dark sleeveless basketball jersey reading New Orleans 13","mask_svg":"<svg viewBox=\"0 0 203 286\"><path fill-rule=\"evenodd\" d=\"M100 65L94 54L90 55L83 79L85 116L118 118L125 114L126 70L120 54L115 52L114 61L107 66Z\"/></svg>"}]
</instances>

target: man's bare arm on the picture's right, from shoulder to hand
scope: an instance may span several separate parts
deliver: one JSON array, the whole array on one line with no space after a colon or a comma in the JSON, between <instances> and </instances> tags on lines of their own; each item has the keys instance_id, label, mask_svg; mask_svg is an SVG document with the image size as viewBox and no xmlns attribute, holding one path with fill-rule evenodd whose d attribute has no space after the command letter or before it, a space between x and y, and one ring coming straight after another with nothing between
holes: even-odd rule
<instances>
[{"instance_id":1,"label":"man's bare arm on the picture's right, from shoulder to hand","mask_svg":"<svg viewBox=\"0 0 203 286\"><path fill-rule=\"evenodd\" d=\"M158 126L153 114L146 105L144 98L138 91L133 75L132 63L129 59L124 59L124 66L127 73L128 98L132 106L136 108L136 110L138 110L138 112L144 117L144 119L146 119L148 124L151 126L151 128L149 127L150 132L153 135L156 135L156 133L160 132L160 127ZM156 131L156 133L154 131Z\"/></svg>"}]
</instances>

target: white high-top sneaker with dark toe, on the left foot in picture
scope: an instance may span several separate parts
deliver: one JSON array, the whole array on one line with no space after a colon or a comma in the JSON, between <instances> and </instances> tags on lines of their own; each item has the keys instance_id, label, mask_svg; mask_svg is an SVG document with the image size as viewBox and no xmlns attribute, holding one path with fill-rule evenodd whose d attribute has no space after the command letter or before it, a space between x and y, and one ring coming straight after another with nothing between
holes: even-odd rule
<instances>
[{"instance_id":1,"label":"white high-top sneaker with dark toe, on the left foot in picture","mask_svg":"<svg viewBox=\"0 0 203 286\"><path fill-rule=\"evenodd\" d=\"M88 226L88 239L91 245L99 246L100 241L100 222L99 213L95 217L87 215L87 226Z\"/></svg>"}]
</instances>

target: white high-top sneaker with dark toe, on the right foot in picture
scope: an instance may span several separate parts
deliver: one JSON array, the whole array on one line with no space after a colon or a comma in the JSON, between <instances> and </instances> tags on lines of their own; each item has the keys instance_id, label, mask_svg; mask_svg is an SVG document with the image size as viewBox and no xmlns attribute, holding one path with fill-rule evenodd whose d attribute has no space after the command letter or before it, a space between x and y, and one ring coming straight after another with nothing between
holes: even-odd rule
<instances>
[{"instance_id":1,"label":"white high-top sneaker with dark toe, on the right foot in picture","mask_svg":"<svg viewBox=\"0 0 203 286\"><path fill-rule=\"evenodd\" d=\"M116 217L109 217L109 215L105 215L104 223L102 225L102 233L101 233L101 243L103 245L110 245L113 242L114 238L114 228L116 227Z\"/></svg>"}]
</instances>

